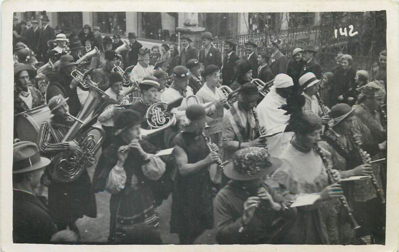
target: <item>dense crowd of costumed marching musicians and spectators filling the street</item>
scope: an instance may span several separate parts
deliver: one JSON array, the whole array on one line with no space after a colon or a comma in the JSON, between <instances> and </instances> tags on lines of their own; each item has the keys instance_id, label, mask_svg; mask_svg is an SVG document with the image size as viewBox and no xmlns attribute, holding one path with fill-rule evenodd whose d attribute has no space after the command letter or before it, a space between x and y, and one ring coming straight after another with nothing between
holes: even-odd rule
<instances>
[{"instance_id":1,"label":"dense crowd of costumed marching musicians and spectators filling the street","mask_svg":"<svg viewBox=\"0 0 399 252\"><path fill-rule=\"evenodd\" d=\"M341 53L323 69L316 48L288 58L278 38L261 53L249 39L240 59L236 41L221 52L210 32L199 49L183 34L150 50L134 33L125 44L88 24L56 34L45 15L42 27L23 23L13 31L14 124L50 115L33 118L35 143L14 130L14 243L78 242L76 221L96 218L103 191L111 244L162 244L157 208L170 194L180 244L209 229L219 244L385 243L386 50L373 69ZM103 131L101 155L79 163L97 152L82 140L91 126ZM82 169L63 181L66 154ZM310 195L313 204L291 207Z\"/></svg>"}]
</instances>

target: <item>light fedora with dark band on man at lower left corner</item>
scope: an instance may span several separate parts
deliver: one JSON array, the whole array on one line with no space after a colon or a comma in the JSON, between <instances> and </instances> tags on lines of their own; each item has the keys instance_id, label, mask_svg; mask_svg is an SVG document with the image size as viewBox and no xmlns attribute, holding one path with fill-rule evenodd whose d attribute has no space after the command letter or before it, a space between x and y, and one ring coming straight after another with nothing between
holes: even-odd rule
<instances>
[{"instance_id":1,"label":"light fedora with dark band on man at lower left corner","mask_svg":"<svg viewBox=\"0 0 399 252\"><path fill-rule=\"evenodd\" d=\"M39 148L35 143L22 141L13 145L12 174L34 171L50 162L48 158L40 157Z\"/></svg>"}]
</instances>

